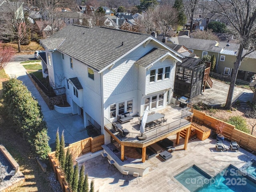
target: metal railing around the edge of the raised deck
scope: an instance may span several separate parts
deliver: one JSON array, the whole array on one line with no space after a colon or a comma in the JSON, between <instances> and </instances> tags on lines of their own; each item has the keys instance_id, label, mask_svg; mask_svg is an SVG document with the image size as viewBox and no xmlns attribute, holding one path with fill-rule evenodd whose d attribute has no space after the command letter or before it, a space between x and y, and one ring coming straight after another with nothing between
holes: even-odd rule
<instances>
[{"instance_id":1,"label":"metal railing around the edge of the raised deck","mask_svg":"<svg viewBox=\"0 0 256 192\"><path fill-rule=\"evenodd\" d=\"M148 142L149 140L152 140L164 134L170 133L188 124L190 124L188 120L185 120L184 118L180 118L179 120L176 120L166 125L158 126L144 133L129 132L126 136L122 136L121 134L119 134L119 132L116 132L114 130L113 124L107 118L105 118L105 127L108 128L108 130L110 130L113 135L115 135L121 141L134 142L134 143ZM143 138L143 140L139 140L138 137Z\"/></svg>"}]
</instances>

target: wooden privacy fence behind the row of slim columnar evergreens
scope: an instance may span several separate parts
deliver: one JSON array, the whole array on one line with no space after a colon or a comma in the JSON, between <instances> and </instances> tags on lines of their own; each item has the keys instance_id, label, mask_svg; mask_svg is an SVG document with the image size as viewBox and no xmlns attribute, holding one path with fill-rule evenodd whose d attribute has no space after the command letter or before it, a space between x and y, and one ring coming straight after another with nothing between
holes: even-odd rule
<instances>
[{"instance_id":1,"label":"wooden privacy fence behind the row of slim columnar evergreens","mask_svg":"<svg viewBox=\"0 0 256 192\"><path fill-rule=\"evenodd\" d=\"M70 153L73 154L73 160L75 162L76 158L82 156L89 152L97 152L102 150L102 145L104 144L104 135L96 136L94 138L89 137L84 140L70 144L68 147L65 147L65 153L67 150L70 150ZM60 186L63 192L70 192L68 184L65 182L64 174L58 166L58 160L55 158L55 151L48 154L50 166L54 170L56 179L60 183Z\"/></svg>"}]
</instances>

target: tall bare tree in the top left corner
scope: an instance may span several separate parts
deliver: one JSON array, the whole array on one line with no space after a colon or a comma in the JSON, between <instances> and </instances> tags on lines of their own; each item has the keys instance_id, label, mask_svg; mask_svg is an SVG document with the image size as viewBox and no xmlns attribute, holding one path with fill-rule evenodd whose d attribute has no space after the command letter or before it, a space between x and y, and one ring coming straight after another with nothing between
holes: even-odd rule
<instances>
[{"instance_id":1,"label":"tall bare tree in the top left corner","mask_svg":"<svg viewBox=\"0 0 256 192\"><path fill-rule=\"evenodd\" d=\"M26 24L22 8L22 1L4 1L0 8L0 34L8 40L14 40L18 44L18 52L21 52L21 43L29 41L29 25Z\"/></svg>"}]
</instances>

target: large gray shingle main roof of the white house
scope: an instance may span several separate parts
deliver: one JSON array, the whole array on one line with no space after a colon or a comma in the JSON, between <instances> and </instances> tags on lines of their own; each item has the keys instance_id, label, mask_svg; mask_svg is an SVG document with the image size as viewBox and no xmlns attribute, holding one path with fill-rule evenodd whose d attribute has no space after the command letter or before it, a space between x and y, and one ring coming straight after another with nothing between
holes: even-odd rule
<instances>
[{"instance_id":1,"label":"large gray shingle main roof of the white house","mask_svg":"<svg viewBox=\"0 0 256 192\"><path fill-rule=\"evenodd\" d=\"M100 71L150 35L98 27L70 24L40 42ZM63 41L63 42L62 42Z\"/></svg>"}]
</instances>

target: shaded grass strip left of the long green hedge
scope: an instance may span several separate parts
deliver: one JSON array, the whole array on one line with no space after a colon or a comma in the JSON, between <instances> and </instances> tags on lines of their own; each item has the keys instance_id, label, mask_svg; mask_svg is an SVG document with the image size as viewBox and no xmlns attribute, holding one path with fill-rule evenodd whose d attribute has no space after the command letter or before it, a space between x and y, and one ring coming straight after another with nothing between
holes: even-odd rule
<instances>
[{"instance_id":1,"label":"shaded grass strip left of the long green hedge","mask_svg":"<svg viewBox=\"0 0 256 192\"><path fill-rule=\"evenodd\" d=\"M47 172L44 173L36 162L36 156L31 152L28 142L22 138L20 133L15 131L16 126L7 119L6 111L3 107L4 96L2 88L6 81L6 78L3 78L4 74L3 70L0 70L0 143L5 146L18 162L20 171L26 177L26 181L21 186L14 188L10 192L53 192L48 179L49 174L52 172L49 165Z\"/></svg>"}]
</instances>

